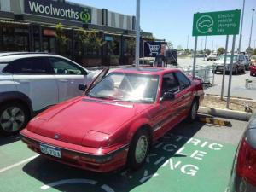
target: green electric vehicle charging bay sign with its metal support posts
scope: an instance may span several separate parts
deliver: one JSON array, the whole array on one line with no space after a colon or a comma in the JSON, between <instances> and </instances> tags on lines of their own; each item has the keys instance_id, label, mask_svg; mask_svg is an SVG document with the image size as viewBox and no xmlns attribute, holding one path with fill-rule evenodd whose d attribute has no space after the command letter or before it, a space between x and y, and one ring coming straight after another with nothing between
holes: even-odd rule
<instances>
[{"instance_id":1,"label":"green electric vehicle charging bay sign with its metal support posts","mask_svg":"<svg viewBox=\"0 0 256 192\"><path fill-rule=\"evenodd\" d=\"M197 40L197 36L211 36L211 35L227 35L226 39L226 52L228 49L228 41L229 35L234 35L233 44L232 44L232 55L231 55L231 63L230 63L230 81L228 88L228 99L226 108L229 108L230 103L230 87L231 87L231 79L232 79L232 66L233 66L233 55L235 50L236 43L236 34L239 34L240 27L240 15L241 10L227 10L227 11L217 11L217 12L208 12L208 13L196 13L194 14L193 20L193 32L192 35L195 36ZM195 41L195 51L196 51ZM196 56L196 53L194 53ZM226 63L226 53L224 59L224 72L225 72L225 63ZM193 78L195 77L195 58L193 65ZM221 90L221 98L223 98L224 91L224 73L223 73L223 83Z\"/></svg>"}]
</instances>

